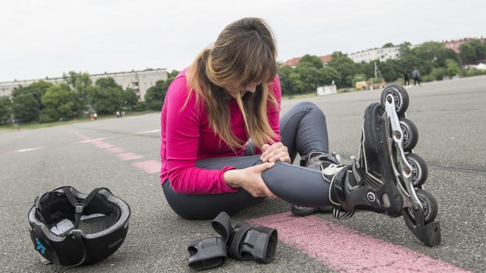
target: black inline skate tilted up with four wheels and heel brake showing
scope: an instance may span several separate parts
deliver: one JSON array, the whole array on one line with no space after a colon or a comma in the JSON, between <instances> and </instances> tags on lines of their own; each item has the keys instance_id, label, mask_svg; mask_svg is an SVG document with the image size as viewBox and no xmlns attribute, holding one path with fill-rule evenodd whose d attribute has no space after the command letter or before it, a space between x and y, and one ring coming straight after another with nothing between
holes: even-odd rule
<instances>
[{"instance_id":1,"label":"black inline skate tilted up with four wheels and heel brake showing","mask_svg":"<svg viewBox=\"0 0 486 273\"><path fill-rule=\"evenodd\" d=\"M398 84L383 90L381 103L371 104L363 118L359 158L330 176L333 215L344 219L355 211L403 215L409 229L428 246L440 244L434 221L437 202L422 185L427 165L412 153L418 141L415 125L406 118L407 91ZM407 153L409 152L409 153Z\"/></svg>"}]
</instances>

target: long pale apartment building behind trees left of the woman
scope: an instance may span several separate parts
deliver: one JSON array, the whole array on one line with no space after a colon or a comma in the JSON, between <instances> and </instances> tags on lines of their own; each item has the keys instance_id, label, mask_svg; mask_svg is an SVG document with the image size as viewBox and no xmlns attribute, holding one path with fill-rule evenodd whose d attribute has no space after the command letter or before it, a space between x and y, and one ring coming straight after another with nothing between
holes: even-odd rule
<instances>
[{"instance_id":1,"label":"long pale apartment building behind trees left of the woman","mask_svg":"<svg viewBox=\"0 0 486 273\"><path fill-rule=\"evenodd\" d=\"M147 89L155 86L155 82L158 80L166 80L169 73L167 69L145 69L130 72L114 72L114 73L103 73L103 74L92 74L90 75L93 83L100 78L113 78L113 80L121 85L124 89L132 88L135 90L140 98L140 101L144 100L145 93ZM64 78L45 78L45 79L33 79L33 80L14 80L14 81L4 81L0 82L0 97L10 96L14 88L20 86L27 86L36 81L46 81L52 82L54 84L59 84L64 82Z\"/></svg>"}]
</instances>

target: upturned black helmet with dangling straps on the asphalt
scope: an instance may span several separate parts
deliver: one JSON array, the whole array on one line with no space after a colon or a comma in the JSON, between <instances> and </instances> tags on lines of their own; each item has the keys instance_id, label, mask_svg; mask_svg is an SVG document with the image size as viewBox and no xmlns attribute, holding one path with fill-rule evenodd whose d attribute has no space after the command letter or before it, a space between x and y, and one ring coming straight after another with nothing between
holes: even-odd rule
<instances>
[{"instance_id":1,"label":"upturned black helmet with dangling straps on the asphalt","mask_svg":"<svg viewBox=\"0 0 486 273\"><path fill-rule=\"evenodd\" d=\"M35 199L28 214L30 238L56 271L59 265L92 264L123 243L130 213L130 206L106 188L86 195L61 187Z\"/></svg>"}]
</instances>

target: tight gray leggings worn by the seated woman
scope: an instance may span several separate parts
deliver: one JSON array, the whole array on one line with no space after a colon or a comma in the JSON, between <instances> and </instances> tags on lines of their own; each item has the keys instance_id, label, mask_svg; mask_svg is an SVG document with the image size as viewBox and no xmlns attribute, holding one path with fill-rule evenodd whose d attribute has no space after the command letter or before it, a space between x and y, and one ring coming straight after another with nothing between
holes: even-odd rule
<instances>
[{"instance_id":1,"label":"tight gray leggings worn by the seated woman","mask_svg":"<svg viewBox=\"0 0 486 273\"><path fill-rule=\"evenodd\" d=\"M291 162L294 162L297 153L305 156L312 151L329 152L326 118L313 103L298 103L281 116L280 135L282 144L289 149ZM211 170L225 166L237 169L255 166L262 161L260 155L252 155L254 151L249 142L245 156L201 159L196 162L196 166ZM262 172L262 178L272 193L291 204L305 207L331 206L329 183L322 178L320 171L277 161L275 166ZM171 208L187 219L211 219L221 211L232 214L264 199L253 197L242 188L235 193L178 194L172 190L169 179L164 181L162 188Z\"/></svg>"}]
</instances>

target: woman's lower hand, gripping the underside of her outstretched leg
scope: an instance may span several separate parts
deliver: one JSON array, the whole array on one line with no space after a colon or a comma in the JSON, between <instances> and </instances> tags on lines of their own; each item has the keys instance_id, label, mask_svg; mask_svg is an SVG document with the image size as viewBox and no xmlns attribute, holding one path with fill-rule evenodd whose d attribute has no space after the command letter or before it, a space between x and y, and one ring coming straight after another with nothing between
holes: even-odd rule
<instances>
[{"instance_id":1,"label":"woman's lower hand, gripping the underside of her outstretched leg","mask_svg":"<svg viewBox=\"0 0 486 273\"><path fill-rule=\"evenodd\" d=\"M262 178L262 172L274 165L275 163L267 162L245 169L227 170L224 172L223 178L229 187L241 187L253 197L270 197L279 200L280 198L270 192Z\"/></svg>"}]
</instances>

